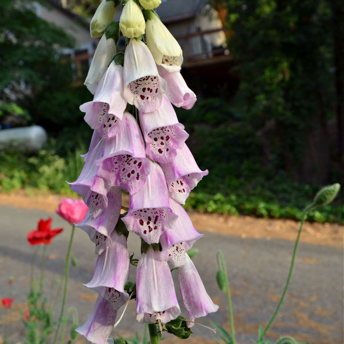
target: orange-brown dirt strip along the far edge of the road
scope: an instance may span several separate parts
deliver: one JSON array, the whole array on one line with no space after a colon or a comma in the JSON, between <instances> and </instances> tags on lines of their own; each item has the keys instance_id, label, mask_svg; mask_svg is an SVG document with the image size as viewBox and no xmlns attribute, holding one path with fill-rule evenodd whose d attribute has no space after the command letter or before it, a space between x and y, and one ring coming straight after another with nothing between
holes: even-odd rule
<instances>
[{"instance_id":1,"label":"orange-brown dirt strip along the far edge of the road","mask_svg":"<svg viewBox=\"0 0 344 344\"><path fill-rule=\"evenodd\" d=\"M0 205L55 212L61 198L63 196L49 193L36 193L35 195L28 195L24 191L9 194L0 193ZM129 197L125 194L123 205L128 206L128 203ZM194 226L201 233L212 232L240 236L241 238L265 238L266 240L279 238L294 241L300 225L297 221L285 219L235 217L197 212L189 212L189 215ZM342 247L343 234L342 225L305 222L300 241L314 245Z\"/></svg>"}]
</instances>

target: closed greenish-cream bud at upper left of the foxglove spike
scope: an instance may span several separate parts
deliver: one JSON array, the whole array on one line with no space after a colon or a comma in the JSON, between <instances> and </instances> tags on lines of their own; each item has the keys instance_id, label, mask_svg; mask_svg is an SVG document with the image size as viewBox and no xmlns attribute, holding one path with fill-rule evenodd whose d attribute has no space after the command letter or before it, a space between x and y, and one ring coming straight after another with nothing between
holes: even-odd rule
<instances>
[{"instance_id":1,"label":"closed greenish-cream bud at upper left of the foxglove spike","mask_svg":"<svg viewBox=\"0 0 344 344\"><path fill-rule=\"evenodd\" d=\"M104 33L106 26L114 20L116 6L114 0L103 0L100 3L89 25L93 38L100 37Z\"/></svg>"}]
</instances>

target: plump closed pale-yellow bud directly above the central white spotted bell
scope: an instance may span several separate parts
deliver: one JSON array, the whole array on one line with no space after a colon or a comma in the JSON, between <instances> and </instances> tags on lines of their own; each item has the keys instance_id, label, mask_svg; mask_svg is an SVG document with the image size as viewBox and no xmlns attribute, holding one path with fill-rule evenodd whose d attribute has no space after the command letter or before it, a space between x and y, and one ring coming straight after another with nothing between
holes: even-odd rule
<instances>
[{"instance_id":1,"label":"plump closed pale-yellow bud directly above the central white spotted bell","mask_svg":"<svg viewBox=\"0 0 344 344\"><path fill-rule=\"evenodd\" d=\"M134 38L144 34L146 24L140 6L133 0L128 0L123 7L119 19L119 28L123 36Z\"/></svg>"}]
</instances>

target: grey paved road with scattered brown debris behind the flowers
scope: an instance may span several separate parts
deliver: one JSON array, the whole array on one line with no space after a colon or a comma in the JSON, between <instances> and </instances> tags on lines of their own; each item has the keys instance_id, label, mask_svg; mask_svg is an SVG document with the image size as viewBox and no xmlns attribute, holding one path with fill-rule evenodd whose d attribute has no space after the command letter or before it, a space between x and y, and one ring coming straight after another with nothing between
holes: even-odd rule
<instances>
[{"instance_id":1,"label":"grey paved road with scattered brown debris behind the flowers","mask_svg":"<svg viewBox=\"0 0 344 344\"><path fill-rule=\"evenodd\" d=\"M14 276L14 309L25 309L25 292L28 290L33 253L33 247L26 242L26 235L35 228L39 218L49 216L53 217L54 228L64 227L65 230L49 247L50 259L46 265L48 283L45 288L48 297L53 285L51 282L63 271L69 225L55 214L0 206L0 297L8 296L7 281L9 276ZM139 253L139 241L134 235L129 236L128 246L130 251ZM287 277L293 243L205 233L205 237L198 240L194 247L200 249L200 253L193 258L194 263L208 293L220 305L217 313L200 319L200 322L209 324L214 321L229 329L226 297L219 292L215 282L215 253L221 249L232 290L237 342L250 343L250 338L256 338L258 325L266 324L276 307ZM67 304L77 308L80 323L88 318L96 299L95 293L83 286L93 274L96 261L93 251L94 246L88 236L77 229L73 253L79 260L79 266L71 268ZM300 342L343 343L343 250L301 243L297 257L289 292L268 337L276 339L278 334L291 334ZM135 280L135 268L131 269L130 279ZM135 320L134 309L135 303L132 302L114 335L130 336L142 330ZM10 337L14 343L22 339L22 325L19 322L15 325L18 312L12 312L11 316L14 322L12 329L17 333ZM2 336L10 331L6 325L7 319L8 313L0 309ZM198 343L215 343L212 332L201 326L194 326L193 330ZM173 340L173 343L176 342L179 343ZM82 338L79 343L84 343Z\"/></svg>"}]
</instances>

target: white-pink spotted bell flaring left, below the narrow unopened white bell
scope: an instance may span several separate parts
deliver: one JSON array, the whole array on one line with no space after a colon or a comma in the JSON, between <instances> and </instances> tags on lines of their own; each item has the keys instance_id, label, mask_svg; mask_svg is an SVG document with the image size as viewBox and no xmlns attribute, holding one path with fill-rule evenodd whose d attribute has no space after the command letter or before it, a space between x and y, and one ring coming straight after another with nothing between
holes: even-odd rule
<instances>
[{"instance_id":1,"label":"white-pink spotted bell flaring left, below the narrow unopened white bell","mask_svg":"<svg viewBox=\"0 0 344 344\"><path fill-rule=\"evenodd\" d=\"M87 124L102 137L114 137L127 102L123 99L123 67L114 61L101 78L92 101L80 106Z\"/></svg>"}]
</instances>

